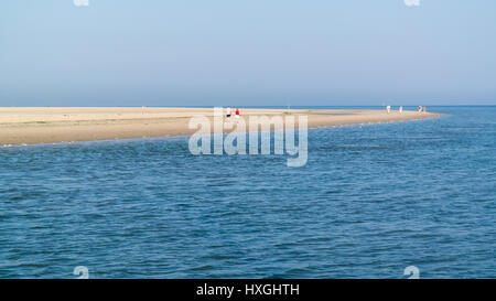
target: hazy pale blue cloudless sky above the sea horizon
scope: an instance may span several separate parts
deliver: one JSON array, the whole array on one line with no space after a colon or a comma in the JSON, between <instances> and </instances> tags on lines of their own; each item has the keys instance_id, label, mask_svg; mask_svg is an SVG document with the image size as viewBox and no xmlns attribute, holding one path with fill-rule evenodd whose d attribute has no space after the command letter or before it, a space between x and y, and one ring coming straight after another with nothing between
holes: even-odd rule
<instances>
[{"instance_id":1,"label":"hazy pale blue cloudless sky above the sea horizon","mask_svg":"<svg viewBox=\"0 0 496 301\"><path fill-rule=\"evenodd\" d=\"M0 106L496 105L496 1L9 0Z\"/></svg>"}]
</instances>

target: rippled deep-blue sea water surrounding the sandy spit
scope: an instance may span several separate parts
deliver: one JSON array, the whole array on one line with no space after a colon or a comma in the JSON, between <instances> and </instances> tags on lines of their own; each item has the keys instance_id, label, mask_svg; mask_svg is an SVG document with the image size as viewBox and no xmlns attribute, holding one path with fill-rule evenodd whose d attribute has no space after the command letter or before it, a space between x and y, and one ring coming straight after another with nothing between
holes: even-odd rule
<instances>
[{"instance_id":1,"label":"rippled deep-blue sea water surrounding the sandy spit","mask_svg":"<svg viewBox=\"0 0 496 301\"><path fill-rule=\"evenodd\" d=\"M187 138L0 148L0 278L494 278L496 107L312 129L309 161Z\"/></svg>"}]
</instances>

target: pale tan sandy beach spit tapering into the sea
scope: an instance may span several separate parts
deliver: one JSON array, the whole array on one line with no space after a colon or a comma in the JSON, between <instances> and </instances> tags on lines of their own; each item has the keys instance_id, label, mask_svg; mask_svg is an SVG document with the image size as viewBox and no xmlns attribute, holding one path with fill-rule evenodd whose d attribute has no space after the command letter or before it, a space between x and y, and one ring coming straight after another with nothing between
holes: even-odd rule
<instances>
[{"instance_id":1,"label":"pale tan sandy beach spit tapering into the sea","mask_svg":"<svg viewBox=\"0 0 496 301\"><path fill-rule=\"evenodd\" d=\"M233 109L234 114L235 109ZM193 116L213 118L213 108L0 108L0 146L192 135ZM386 110L240 109L248 116L309 117L309 127L332 127L436 117L439 114Z\"/></svg>"}]
</instances>

